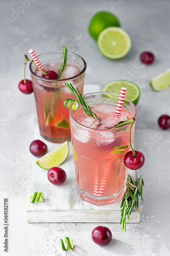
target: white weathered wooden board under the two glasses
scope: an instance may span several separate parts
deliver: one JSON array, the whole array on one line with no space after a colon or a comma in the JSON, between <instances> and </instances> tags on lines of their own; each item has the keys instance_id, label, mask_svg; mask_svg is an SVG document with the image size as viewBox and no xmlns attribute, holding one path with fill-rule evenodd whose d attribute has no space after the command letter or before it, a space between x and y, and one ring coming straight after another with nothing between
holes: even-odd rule
<instances>
[{"instance_id":1,"label":"white weathered wooden board under the two glasses","mask_svg":"<svg viewBox=\"0 0 170 256\"><path fill-rule=\"evenodd\" d=\"M85 93L99 92L98 85L86 85ZM48 152L54 150L59 144L44 140L39 134L37 119L35 120L34 138L42 140L48 147ZM31 142L30 142L31 143ZM95 206L82 201L75 185L74 163L72 145L69 142L69 155L61 165L67 174L66 181L61 186L53 185L47 178L47 170L40 168L37 158L32 156L28 196L34 192L43 193L44 202L31 203L27 201L27 221L29 223L42 222L120 222L120 202L116 204ZM129 172L133 179L135 172ZM140 221L140 209L134 207L130 222Z\"/></svg>"}]
</instances>

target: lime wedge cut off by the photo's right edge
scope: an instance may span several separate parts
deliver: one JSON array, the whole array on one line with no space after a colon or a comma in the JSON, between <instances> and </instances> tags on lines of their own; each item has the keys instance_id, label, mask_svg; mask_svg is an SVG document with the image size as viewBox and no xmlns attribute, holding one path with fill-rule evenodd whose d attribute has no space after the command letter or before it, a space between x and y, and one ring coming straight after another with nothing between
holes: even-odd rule
<instances>
[{"instance_id":1,"label":"lime wedge cut off by the photo's right edge","mask_svg":"<svg viewBox=\"0 0 170 256\"><path fill-rule=\"evenodd\" d=\"M150 86L155 91L161 91L168 87L170 84L170 69L153 78L150 82Z\"/></svg>"}]
</instances>

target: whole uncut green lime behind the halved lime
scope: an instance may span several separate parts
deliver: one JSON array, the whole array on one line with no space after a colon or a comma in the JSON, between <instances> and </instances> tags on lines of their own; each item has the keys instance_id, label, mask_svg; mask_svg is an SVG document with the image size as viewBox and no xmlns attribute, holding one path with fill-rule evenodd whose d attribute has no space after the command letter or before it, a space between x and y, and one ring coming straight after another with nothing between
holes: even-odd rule
<instances>
[{"instance_id":1,"label":"whole uncut green lime behind the halved lime","mask_svg":"<svg viewBox=\"0 0 170 256\"><path fill-rule=\"evenodd\" d=\"M98 40L99 34L108 27L120 27L117 17L111 12L97 12L89 22L88 32L91 37Z\"/></svg>"}]
</instances>

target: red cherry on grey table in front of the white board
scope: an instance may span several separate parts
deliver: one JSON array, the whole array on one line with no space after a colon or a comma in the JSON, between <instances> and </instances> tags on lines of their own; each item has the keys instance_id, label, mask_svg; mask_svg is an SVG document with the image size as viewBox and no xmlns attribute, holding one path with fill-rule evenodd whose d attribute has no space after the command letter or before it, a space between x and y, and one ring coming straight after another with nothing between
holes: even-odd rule
<instances>
[{"instance_id":1,"label":"red cherry on grey table in front of the white board","mask_svg":"<svg viewBox=\"0 0 170 256\"><path fill-rule=\"evenodd\" d=\"M112 240L112 232L108 227L98 226L93 229L91 238L96 244L107 245Z\"/></svg>"}]
</instances>

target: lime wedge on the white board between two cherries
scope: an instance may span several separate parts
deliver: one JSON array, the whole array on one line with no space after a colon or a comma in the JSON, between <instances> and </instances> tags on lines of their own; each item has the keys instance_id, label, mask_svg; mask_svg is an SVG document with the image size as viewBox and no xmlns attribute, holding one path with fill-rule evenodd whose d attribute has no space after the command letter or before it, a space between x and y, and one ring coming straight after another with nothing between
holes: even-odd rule
<instances>
[{"instance_id":1,"label":"lime wedge on the white board between two cherries","mask_svg":"<svg viewBox=\"0 0 170 256\"><path fill-rule=\"evenodd\" d=\"M55 150L47 153L37 160L37 164L43 169L50 169L61 165L67 158L69 153L68 141L55 148Z\"/></svg>"}]
</instances>

